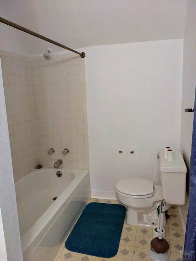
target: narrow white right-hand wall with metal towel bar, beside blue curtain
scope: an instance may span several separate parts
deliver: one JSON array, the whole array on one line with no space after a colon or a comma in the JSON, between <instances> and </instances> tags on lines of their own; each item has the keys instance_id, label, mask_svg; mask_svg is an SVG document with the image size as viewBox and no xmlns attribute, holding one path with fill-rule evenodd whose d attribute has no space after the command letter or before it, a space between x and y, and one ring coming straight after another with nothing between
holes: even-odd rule
<instances>
[{"instance_id":1,"label":"narrow white right-hand wall with metal towel bar, beside blue curtain","mask_svg":"<svg viewBox=\"0 0 196 261\"><path fill-rule=\"evenodd\" d=\"M190 169L190 154L193 128L193 113L184 112L185 108L194 107L196 83L196 1L190 0L187 9L187 21L184 35L183 50L183 84L182 84L182 119L181 119L181 150L185 159L188 175ZM187 179L189 190L189 178ZM184 206L181 207L183 220L186 224L189 205L189 195Z\"/></svg>"}]
</instances>

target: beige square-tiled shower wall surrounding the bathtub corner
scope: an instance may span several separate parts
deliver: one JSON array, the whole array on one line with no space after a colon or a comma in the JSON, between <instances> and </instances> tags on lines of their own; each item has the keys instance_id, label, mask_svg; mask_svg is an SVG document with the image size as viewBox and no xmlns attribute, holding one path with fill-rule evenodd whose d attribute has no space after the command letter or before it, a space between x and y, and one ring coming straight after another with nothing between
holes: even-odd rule
<instances>
[{"instance_id":1,"label":"beige square-tiled shower wall surrounding the bathtub corner","mask_svg":"<svg viewBox=\"0 0 196 261\"><path fill-rule=\"evenodd\" d=\"M85 59L0 56L14 181L58 158L66 168L89 168ZM51 147L55 153L48 155Z\"/></svg>"}]
</instances>

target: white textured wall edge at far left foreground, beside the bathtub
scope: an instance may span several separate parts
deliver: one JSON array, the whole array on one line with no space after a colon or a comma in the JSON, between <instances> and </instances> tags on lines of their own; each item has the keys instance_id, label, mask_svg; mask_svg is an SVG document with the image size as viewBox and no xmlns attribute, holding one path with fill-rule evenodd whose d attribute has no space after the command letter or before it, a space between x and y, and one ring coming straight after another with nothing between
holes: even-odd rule
<instances>
[{"instance_id":1,"label":"white textured wall edge at far left foreground, beside the bathtub","mask_svg":"<svg viewBox=\"0 0 196 261\"><path fill-rule=\"evenodd\" d=\"M9 144L9 133L6 116L6 105L2 82L0 63L0 206L3 233L0 233L0 242L5 242L6 255L9 261L23 260L18 226L16 195L13 181L12 159ZM2 229L1 229L2 231ZM2 245L1 245L2 247ZM2 250L5 257L5 249ZM6 258L6 257L5 257ZM2 261L6 259L1 259Z\"/></svg>"}]
</instances>

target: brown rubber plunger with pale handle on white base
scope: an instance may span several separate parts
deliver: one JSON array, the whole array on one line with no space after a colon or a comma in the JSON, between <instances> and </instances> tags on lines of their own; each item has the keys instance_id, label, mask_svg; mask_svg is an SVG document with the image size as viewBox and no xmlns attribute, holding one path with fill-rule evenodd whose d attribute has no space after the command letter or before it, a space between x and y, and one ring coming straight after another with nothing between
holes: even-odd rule
<instances>
[{"instance_id":1,"label":"brown rubber plunger with pale handle on white base","mask_svg":"<svg viewBox=\"0 0 196 261\"><path fill-rule=\"evenodd\" d=\"M155 237L150 242L150 252L149 256L151 259L156 261L166 261L168 260L168 249L169 244L168 242L162 238L162 229L163 229L163 214L165 209L165 199L161 201L160 205L160 230L159 230L159 236Z\"/></svg>"}]
</instances>

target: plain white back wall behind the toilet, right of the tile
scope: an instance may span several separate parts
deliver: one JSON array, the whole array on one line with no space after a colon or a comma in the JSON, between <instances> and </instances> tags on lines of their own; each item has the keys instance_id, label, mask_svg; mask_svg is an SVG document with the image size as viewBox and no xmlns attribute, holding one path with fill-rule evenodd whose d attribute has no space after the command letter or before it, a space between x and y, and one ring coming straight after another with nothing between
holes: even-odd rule
<instances>
[{"instance_id":1,"label":"plain white back wall behind the toilet, right of the tile","mask_svg":"<svg viewBox=\"0 0 196 261\"><path fill-rule=\"evenodd\" d=\"M180 148L183 39L85 53L92 196L114 198L126 177L159 184L158 149Z\"/></svg>"}]
</instances>

